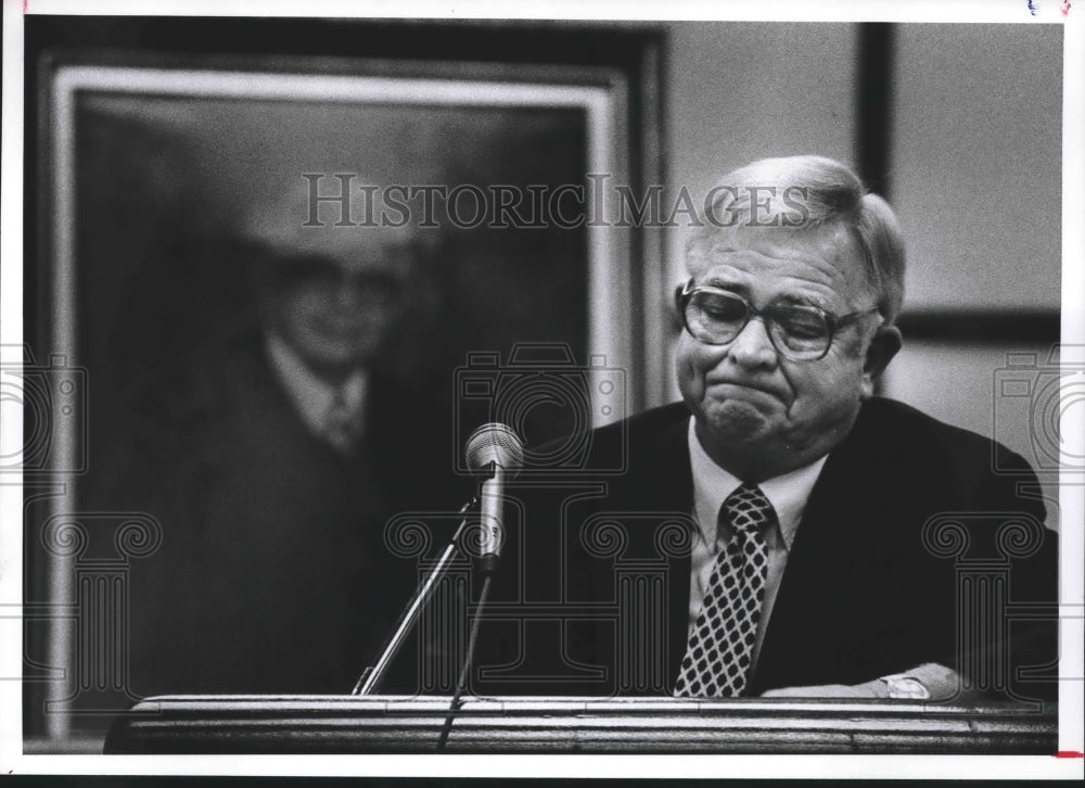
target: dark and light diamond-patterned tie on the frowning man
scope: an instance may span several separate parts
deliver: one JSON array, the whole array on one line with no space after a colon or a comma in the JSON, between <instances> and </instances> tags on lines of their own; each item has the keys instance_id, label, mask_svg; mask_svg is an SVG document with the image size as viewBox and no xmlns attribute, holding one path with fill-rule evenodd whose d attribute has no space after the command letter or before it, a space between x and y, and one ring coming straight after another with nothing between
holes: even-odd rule
<instances>
[{"instance_id":1,"label":"dark and light diamond-patterned tie on the frowning man","mask_svg":"<svg viewBox=\"0 0 1085 788\"><path fill-rule=\"evenodd\" d=\"M768 571L762 530L775 517L773 505L753 484L740 486L720 507L719 519L726 518L731 538L716 556L675 696L730 698L745 688Z\"/></svg>"}]
</instances>

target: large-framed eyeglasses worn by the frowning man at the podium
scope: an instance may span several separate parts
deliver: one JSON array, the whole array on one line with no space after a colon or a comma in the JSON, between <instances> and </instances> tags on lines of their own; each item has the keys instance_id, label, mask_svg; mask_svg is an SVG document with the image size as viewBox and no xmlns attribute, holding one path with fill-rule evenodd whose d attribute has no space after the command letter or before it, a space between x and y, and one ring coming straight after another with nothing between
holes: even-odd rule
<instances>
[{"instance_id":1,"label":"large-framed eyeglasses worn by the frowning man at the podium","mask_svg":"<svg viewBox=\"0 0 1085 788\"><path fill-rule=\"evenodd\" d=\"M878 312L873 306L837 317L816 306L779 301L755 309L738 293L719 288L694 288L690 279L675 292L686 330L698 342L726 345L735 341L755 317L768 331L773 347L790 361L816 361L832 346L835 333L860 317Z\"/></svg>"}]
</instances>

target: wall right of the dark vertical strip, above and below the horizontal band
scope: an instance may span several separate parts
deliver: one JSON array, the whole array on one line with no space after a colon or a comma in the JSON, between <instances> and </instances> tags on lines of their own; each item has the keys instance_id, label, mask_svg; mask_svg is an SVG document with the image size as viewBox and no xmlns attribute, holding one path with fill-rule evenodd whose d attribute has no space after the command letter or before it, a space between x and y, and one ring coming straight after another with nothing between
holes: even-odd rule
<instances>
[{"instance_id":1,"label":"wall right of the dark vertical strip, above and below the horizontal band","mask_svg":"<svg viewBox=\"0 0 1085 788\"><path fill-rule=\"evenodd\" d=\"M908 241L907 308L995 313L1010 334L1024 309L1057 315L1061 26L904 25L897 41L892 201ZM1043 472L1058 457L1058 396L1044 385L1058 338L1018 335L906 336L885 391ZM1030 380L1034 396L1010 396L1007 376ZM1057 488L1044 481L1054 526Z\"/></svg>"}]
</instances>

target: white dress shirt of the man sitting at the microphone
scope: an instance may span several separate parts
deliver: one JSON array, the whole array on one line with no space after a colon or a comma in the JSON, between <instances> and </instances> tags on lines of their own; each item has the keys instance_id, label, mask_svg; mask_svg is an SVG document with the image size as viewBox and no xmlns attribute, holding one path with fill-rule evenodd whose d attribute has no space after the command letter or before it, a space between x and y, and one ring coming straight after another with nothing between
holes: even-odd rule
<instances>
[{"instance_id":1,"label":"white dress shirt of the man sitting at the microphone","mask_svg":"<svg viewBox=\"0 0 1085 788\"><path fill-rule=\"evenodd\" d=\"M757 639L753 650L754 665L757 664L757 657L761 654L761 645L765 639L765 631L768 627L769 617L773 614L773 606L780 589L780 582L783 580L783 570L788 563L788 554L794 542L795 532L799 530L799 522L802 520L803 511L806 509L806 500L810 496L810 491L814 490L814 484L821 473L827 457L828 455L808 466L766 480L757 485L776 510L779 524L765 533L768 550L768 574L765 580L765 600L762 603L761 620L757 622ZM725 524L720 525L717 538L716 522L719 509L724 505L724 500L742 484L741 480L717 466L705 453L697 437L692 417L689 420L689 458L693 470L693 516L698 523L698 534L693 541L691 556L692 574L689 584L689 630L687 637L692 634L693 623L701 612L701 602L709 589L709 581L712 577L716 555L731 538L731 534L727 533L729 529Z\"/></svg>"}]
</instances>

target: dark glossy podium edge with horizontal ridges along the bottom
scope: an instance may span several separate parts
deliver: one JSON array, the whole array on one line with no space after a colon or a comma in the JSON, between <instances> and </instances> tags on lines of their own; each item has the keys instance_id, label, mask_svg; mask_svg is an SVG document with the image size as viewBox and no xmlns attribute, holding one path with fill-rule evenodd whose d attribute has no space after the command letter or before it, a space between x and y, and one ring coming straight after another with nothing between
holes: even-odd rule
<instances>
[{"instance_id":1,"label":"dark glossy podium edge with horizontal ridges along the bottom","mask_svg":"<svg viewBox=\"0 0 1085 788\"><path fill-rule=\"evenodd\" d=\"M449 698L162 696L106 753L435 752ZM449 753L1054 754L1054 704L910 700L465 698Z\"/></svg>"}]
</instances>

